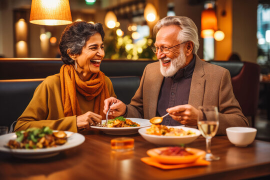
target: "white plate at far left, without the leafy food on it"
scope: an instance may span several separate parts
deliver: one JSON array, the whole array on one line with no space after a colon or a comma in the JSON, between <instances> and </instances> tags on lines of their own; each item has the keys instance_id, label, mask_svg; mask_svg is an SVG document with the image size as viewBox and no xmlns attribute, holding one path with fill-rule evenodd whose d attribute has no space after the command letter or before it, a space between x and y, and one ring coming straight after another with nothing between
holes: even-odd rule
<instances>
[{"instance_id":1,"label":"white plate at far left, without the leafy food on it","mask_svg":"<svg viewBox=\"0 0 270 180\"><path fill-rule=\"evenodd\" d=\"M36 149L10 149L6 144L10 139L15 139L16 134L8 133L0 135L0 151L12 153L14 156L20 158L44 158L51 157L58 154L62 150L66 150L80 145L84 142L85 137L79 133L64 131L67 135L73 133L67 138L67 142L63 145L57 145L56 147L48 148L36 148Z\"/></svg>"}]
</instances>

